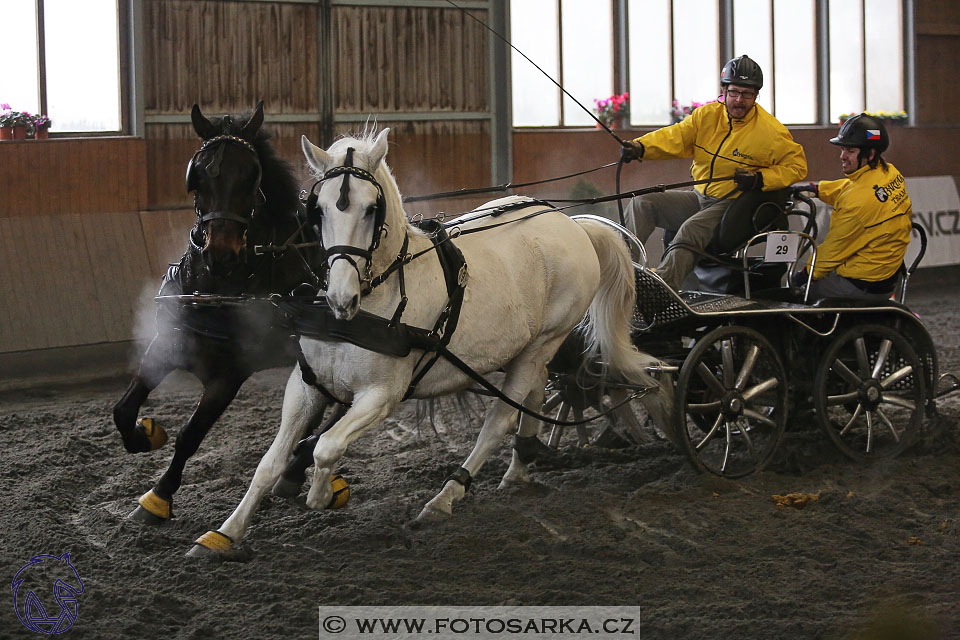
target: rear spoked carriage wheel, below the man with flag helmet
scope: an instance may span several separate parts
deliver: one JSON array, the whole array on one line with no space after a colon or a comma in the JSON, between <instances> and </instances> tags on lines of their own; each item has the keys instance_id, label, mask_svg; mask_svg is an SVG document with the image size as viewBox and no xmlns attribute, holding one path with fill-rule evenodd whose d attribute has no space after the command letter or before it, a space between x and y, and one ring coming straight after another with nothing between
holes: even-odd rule
<instances>
[{"instance_id":1,"label":"rear spoked carriage wheel, below the man with flag helmet","mask_svg":"<svg viewBox=\"0 0 960 640\"><path fill-rule=\"evenodd\" d=\"M846 456L866 461L909 447L923 421L923 363L889 327L864 325L827 349L814 379L817 421Z\"/></svg>"}]
</instances>

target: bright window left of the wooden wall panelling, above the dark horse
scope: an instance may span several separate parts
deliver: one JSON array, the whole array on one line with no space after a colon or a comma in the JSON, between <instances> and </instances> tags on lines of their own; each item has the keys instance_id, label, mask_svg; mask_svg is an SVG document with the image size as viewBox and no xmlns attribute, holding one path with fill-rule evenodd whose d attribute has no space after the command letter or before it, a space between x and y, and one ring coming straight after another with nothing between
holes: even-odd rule
<instances>
[{"instance_id":1,"label":"bright window left of the wooden wall panelling, above the dark horse","mask_svg":"<svg viewBox=\"0 0 960 640\"><path fill-rule=\"evenodd\" d=\"M52 132L121 130L117 0L0 0L0 15L17 16L4 48L20 59L0 102L50 116Z\"/></svg>"}]
</instances>

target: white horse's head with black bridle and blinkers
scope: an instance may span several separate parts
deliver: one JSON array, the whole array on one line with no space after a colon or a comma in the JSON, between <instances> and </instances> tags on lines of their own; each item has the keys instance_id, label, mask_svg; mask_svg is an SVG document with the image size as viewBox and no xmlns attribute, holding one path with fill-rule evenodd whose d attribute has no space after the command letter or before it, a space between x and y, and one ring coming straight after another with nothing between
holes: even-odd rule
<instances>
[{"instance_id":1,"label":"white horse's head with black bridle and blinkers","mask_svg":"<svg viewBox=\"0 0 960 640\"><path fill-rule=\"evenodd\" d=\"M376 139L343 138L328 151L301 140L317 182L304 204L324 246L327 302L339 319L360 309L369 284L373 253L386 233L386 198L375 177L387 155L384 129Z\"/></svg>"}]
</instances>

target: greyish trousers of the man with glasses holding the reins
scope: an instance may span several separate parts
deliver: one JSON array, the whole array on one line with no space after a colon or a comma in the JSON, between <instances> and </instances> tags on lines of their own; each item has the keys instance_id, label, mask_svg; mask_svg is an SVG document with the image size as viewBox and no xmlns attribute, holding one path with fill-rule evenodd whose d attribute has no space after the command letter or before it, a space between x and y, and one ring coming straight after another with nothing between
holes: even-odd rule
<instances>
[{"instance_id":1,"label":"greyish trousers of the man with glasses holding the reins","mask_svg":"<svg viewBox=\"0 0 960 640\"><path fill-rule=\"evenodd\" d=\"M727 207L735 201L718 200L697 191L650 193L632 198L624 210L624 217L627 227L641 242L646 242L653 230L660 227L676 233L671 246L682 242L703 249L713 239ZM657 275L679 291L698 257L680 247L669 249L657 267Z\"/></svg>"}]
</instances>

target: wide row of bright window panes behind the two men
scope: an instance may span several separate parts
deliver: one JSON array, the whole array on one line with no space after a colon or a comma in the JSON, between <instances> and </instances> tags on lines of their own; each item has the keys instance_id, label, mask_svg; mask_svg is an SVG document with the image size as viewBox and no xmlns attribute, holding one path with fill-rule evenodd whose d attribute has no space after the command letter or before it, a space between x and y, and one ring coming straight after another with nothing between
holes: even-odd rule
<instances>
[{"instance_id":1,"label":"wide row of bright window panes behind the two men","mask_svg":"<svg viewBox=\"0 0 960 640\"><path fill-rule=\"evenodd\" d=\"M826 124L903 109L903 2L513 0L511 35L587 108L629 91L634 126L669 124L673 101L716 100L723 63L743 54L763 69L758 104L785 124ZM624 16L624 42L613 37L615 16ZM516 52L512 64L515 126L593 124Z\"/></svg>"}]
</instances>

